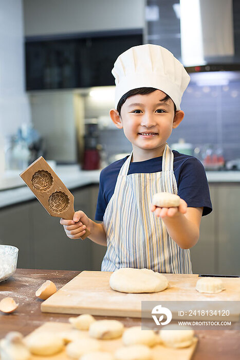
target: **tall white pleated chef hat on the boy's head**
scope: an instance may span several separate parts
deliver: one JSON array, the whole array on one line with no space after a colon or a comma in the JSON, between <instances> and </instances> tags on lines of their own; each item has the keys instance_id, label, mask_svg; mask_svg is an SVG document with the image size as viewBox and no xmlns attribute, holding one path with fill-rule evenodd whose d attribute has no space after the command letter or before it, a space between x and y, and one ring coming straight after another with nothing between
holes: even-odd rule
<instances>
[{"instance_id":1,"label":"tall white pleated chef hat on the boy's head","mask_svg":"<svg viewBox=\"0 0 240 360\"><path fill-rule=\"evenodd\" d=\"M155 87L169 95L180 110L181 97L190 76L169 50L159 45L139 45L124 51L117 58L112 74L115 77L115 106L128 91L139 87Z\"/></svg>"}]
</instances>

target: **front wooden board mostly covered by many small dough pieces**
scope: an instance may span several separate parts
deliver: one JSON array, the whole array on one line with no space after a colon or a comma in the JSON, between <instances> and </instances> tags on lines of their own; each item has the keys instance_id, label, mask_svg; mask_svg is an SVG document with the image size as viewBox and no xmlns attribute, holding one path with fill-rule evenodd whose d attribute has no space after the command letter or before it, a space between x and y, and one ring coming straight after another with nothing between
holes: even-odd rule
<instances>
[{"instance_id":1,"label":"front wooden board mostly covered by many small dough pieces","mask_svg":"<svg viewBox=\"0 0 240 360\"><path fill-rule=\"evenodd\" d=\"M58 334L63 331L67 331L72 329L71 324L64 323L64 322L45 322L44 325L39 327L38 329L34 330L31 334L29 334L27 337L30 337L32 334L42 334L46 332ZM84 336L88 337L87 331L81 331L84 333ZM26 338L27 338L26 337ZM123 346L122 338L114 339L114 340L99 340L101 343L101 349L103 351L108 351L112 354L114 352ZM192 355L194 353L194 350L197 345L197 338L194 338L194 343L189 348L183 348L183 349L171 349L167 348L163 345L156 345L153 347L152 350L152 360L159 360L159 359L168 359L168 360L190 360L192 358ZM30 360L66 360L69 357L66 355L65 349L59 354L52 355L52 356L35 356L32 355ZM96 359L97 360L97 359Z\"/></svg>"}]
</instances>

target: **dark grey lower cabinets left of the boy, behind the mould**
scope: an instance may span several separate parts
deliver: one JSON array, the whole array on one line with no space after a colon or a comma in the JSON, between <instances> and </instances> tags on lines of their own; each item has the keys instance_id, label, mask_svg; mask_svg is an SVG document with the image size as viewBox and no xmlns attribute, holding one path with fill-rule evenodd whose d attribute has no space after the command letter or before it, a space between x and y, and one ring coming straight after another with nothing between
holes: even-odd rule
<instances>
[{"instance_id":1,"label":"dark grey lower cabinets left of the boy, behind the mould","mask_svg":"<svg viewBox=\"0 0 240 360\"><path fill-rule=\"evenodd\" d=\"M94 219L91 204L98 185L72 190L75 209L83 210ZM92 242L89 239L71 240L59 223L37 201L0 210L0 243L19 248L17 267L48 269L91 269Z\"/></svg>"}]
</instances>

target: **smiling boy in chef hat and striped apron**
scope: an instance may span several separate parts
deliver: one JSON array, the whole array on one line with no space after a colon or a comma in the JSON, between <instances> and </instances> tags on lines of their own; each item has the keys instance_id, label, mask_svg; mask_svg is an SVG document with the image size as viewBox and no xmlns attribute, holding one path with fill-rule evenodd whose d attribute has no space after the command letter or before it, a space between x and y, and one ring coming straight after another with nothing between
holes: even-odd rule
<instances>
[{"instance_id":1,"label":"smiling boy in chef hat and striped apron","mask_svg":"<svg viewBox=\"0 0 240 360\"><path fill-rule=\"evenodd\" d=\"M102 271L191 274L189 248L198 241L202 214L212 210L209 188L200 161L167 144L184 117L180 101L190 77L170 51L150 44L123 52L112 73L116 109L110 117L132 143L132 154L101 172L96 220L102 223L83 211L60 222L70 239L88 228L90 240L107 246ZM178 194L179 207L151 205L162 191Z\"/></svg>"}]
</instances>

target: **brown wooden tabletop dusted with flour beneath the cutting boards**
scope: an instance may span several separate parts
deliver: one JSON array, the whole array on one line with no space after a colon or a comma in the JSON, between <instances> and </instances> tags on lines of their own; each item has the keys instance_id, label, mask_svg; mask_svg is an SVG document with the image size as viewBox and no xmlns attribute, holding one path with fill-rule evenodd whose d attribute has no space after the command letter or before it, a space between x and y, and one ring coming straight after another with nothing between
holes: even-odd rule
<instances>
[{"instance_id":1,"label":"brown wooden tabletop dusted with flour beneath the cutting boards","mask_svg":"<svg viewBox=\"0 0 240 360\"><path fill-rule=\"evenodd\" d=\"M19 307L12 314L0 314L0 338L13 330L27 335L46 321L68 322L69 315L42 313L40 310L42 300L35 297L35 291L46 280L52 280L59 290L79 273L77 271L17 269L14 276L1 282L0 300L7 296L13 297L19 303ZM95 318L104 317L95 316ZM138 318L115 317L115 319L123 322L125 327L141 324L141 319ZM196 331L196 334L199 341L193 360L239 359L240 331L209 330Z\"/></svg>"}]
</instances>

